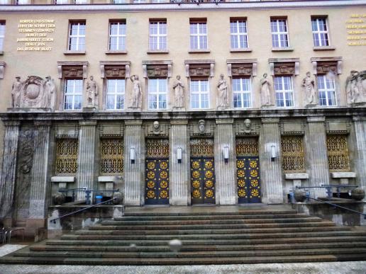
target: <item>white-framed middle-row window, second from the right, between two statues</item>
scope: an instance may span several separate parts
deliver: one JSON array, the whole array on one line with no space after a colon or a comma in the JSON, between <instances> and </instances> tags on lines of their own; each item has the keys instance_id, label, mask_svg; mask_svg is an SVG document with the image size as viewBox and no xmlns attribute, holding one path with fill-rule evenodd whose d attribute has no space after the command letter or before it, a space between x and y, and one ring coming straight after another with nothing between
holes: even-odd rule
<instances>
[{"instance_id":1,"label":"white-framed middle-row window, second from the right, between two statues","mask_svg":"<svg viewBox=\"0 0 366 274\"><path fill-rule=\"evenodd\" d=\"M275 93L277 107L291 107L294 105L291 76L275 76Z\"/></svg>"}]
</instances>

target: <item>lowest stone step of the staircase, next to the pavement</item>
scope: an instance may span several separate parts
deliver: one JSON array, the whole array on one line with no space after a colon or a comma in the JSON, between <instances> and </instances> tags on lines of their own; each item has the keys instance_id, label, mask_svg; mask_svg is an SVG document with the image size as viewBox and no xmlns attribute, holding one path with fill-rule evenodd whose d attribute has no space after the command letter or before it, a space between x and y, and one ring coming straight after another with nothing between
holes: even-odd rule
<instances>
[{"instance_id":1,"label":"lowest stone step of the staircase, next to the pavement","mask_svg":"<svg viewBox=\"0 0 366 274\"><path fill-rule=\"evenodd\" d=\"M57 257L16 257L0 258L1 263L40 264L40 265L88 265L88 266L123 266L123 265L217 265L237 263L301 263L326 261L365 261L366 253L307 255L307 256L245 256L211 258L57 258Z\"/></svg>"}]
</instances>

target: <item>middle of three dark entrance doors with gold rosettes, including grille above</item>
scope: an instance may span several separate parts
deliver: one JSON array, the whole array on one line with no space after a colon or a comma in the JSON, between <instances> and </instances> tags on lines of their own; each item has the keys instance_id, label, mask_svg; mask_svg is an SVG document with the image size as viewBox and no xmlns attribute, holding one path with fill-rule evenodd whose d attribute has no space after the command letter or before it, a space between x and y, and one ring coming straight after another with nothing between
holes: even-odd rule
<instances>
[{"instance_id":1,"label":"middle of three dark entrance doors with gold rosettes, including grille above","mask_svg":"<svg viewBox=\"0 0 366 274\"><path fill-rule=\"evenodd\" d=\"M215 204L214 140L191 139L192 205Z\"/></svg>"}]
</instances>

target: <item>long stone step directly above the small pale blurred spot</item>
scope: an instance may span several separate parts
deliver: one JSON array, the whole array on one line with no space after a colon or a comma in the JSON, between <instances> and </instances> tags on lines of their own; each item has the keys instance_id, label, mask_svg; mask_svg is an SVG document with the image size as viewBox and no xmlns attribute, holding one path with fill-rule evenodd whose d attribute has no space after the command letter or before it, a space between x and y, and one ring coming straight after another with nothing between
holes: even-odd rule
<instances>
[{"instance_id":1,"label":"long stone step directly above the small pale blurred spot","mask_svg":"<svg viewBox=\"0 0 366 274\"><path fill-rule=\"evenodd\" d=\"M61 239L87 239L87 240L167 240L171 239L272 239L272 238L291 238L296 236L301 237L317 237L317 236L366 236L366 232L353 231L332 231L332 232L268 232L268 233L248 233L248 234L169 234L169 232L162 232L163 234L155 235L101 235L101 234L66 234L61 236Z\"/></svg>"}]
</instances>

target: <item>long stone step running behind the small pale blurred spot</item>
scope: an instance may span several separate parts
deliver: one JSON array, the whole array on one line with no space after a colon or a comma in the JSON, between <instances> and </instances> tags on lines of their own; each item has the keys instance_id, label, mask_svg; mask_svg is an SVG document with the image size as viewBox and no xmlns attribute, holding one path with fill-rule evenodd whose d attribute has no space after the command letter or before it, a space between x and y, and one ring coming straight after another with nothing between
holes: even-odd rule
<instances>
[{"instance_id":1,"label":"long stone step running behind the small pale blurred spot","mask_svg":"<svg viewBox=\"0 0 366 274\"><path fill-rule=\"evenodd\" d=\"M86 243L87 244L87 243ZM247 251L247 250L282 250L282 249L333 249L333 248L366 248L366 241L341 242L304 242L300 244L237 244L237 245L183 245L181 251ZM29 247L30 251L131 251L130 246L60 246L38 244ZM164 246L135 246L135 251L162 252L170 251L167 244Z\"/></svg>"}]
</instances>

